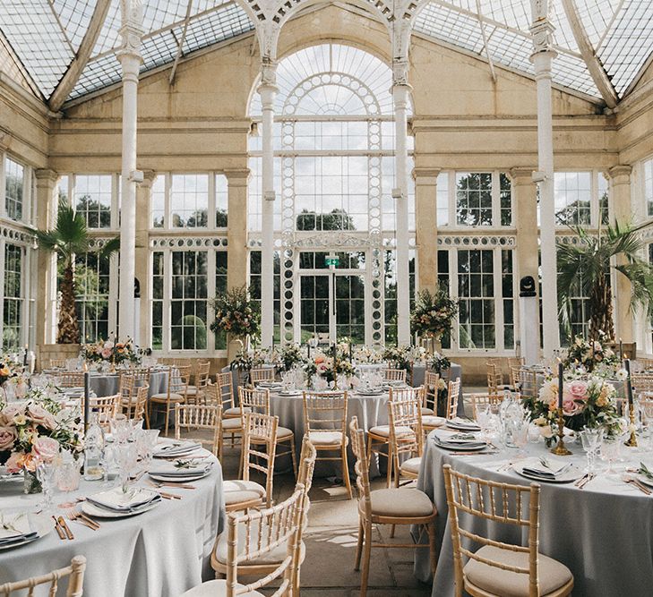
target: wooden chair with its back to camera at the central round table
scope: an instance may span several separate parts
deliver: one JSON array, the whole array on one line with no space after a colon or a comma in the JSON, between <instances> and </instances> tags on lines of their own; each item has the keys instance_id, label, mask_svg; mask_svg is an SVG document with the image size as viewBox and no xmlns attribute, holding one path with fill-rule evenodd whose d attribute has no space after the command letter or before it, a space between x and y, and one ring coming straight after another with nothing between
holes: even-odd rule
<instances>
[{"instance_id":1,"label":"wooden chair with its back to camera at the central round table","mask_svg":"<svg viewBox=\"0 0 653 597\"><path fill-rule=\"evenodd\" d=\"M318 460L339 461L349 499L353 497L347 460L346 391L304 392L304 432L318 454L339 452L339 456L317 456Z\"/></svg>"}]
</instances>

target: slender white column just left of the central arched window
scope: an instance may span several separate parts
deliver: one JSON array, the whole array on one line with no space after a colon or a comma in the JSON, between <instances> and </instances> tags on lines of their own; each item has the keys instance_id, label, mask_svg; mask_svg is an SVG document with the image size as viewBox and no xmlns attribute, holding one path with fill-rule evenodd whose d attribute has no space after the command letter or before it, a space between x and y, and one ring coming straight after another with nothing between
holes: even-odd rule
<instances>
[{"instance_id":1,"label":"slender white column just left of the central arched window","mask_svg":"<svg viewBox=\"0 0 653 597\"><path fill-rule=\"evenodd\" d=\"M261 340L271 346L274 336L274 100L277 65L263 58L258 93L262 104L262 247Z\"/></svg>"}]
</instances>

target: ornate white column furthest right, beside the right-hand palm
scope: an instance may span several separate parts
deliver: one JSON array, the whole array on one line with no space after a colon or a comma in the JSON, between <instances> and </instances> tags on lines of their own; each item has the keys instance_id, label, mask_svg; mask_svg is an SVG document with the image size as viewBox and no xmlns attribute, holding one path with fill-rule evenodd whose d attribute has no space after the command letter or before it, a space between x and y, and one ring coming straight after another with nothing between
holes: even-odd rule
<instances>
[{"instance_id":1,"label":"ornate white column furthest right, beside the right-hand palm","mask_svg":"<svg viewBox=\"0 0 653 597\"><path fill-rule=\"evenodd\" d=\"M555 252L554 141L551 99L551 62L556 56L548 20L548 0L531 0L534 52L530 56L537 81L537 167L534 180L539 183L540 254L542 256L542 323L544 354L551 357L560 347L558 328L558 285ZM534 324L536 322L533 322Z\"/></svg>"}]
</instances>

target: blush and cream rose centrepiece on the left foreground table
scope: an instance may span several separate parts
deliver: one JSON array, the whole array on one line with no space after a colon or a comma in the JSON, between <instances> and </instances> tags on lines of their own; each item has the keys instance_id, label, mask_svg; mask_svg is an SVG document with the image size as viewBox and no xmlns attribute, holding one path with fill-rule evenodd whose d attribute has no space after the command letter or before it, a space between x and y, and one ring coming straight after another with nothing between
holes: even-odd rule
<instances>
[{"instance_id":1,"label":"blush and cream rose centrepiece on the left foreground table","mask_svg":"<svg viewBox=\"0 0 653 597\"><path fill-rule=\"evenodd\" d=\"M26 489L39 490L34 478L39 462L52 462L63 450L79 453L81 438L79 412L39 389L26 402L0 404L0 463L8 473L25 473Z\"/></svg>"}]
</instances>

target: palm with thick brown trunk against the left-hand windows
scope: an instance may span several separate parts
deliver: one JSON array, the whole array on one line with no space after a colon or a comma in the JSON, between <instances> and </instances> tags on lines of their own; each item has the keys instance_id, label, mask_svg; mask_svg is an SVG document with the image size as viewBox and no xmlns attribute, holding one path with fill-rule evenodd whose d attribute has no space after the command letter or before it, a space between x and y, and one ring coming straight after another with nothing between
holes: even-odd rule
<instances>
[{"instance_id":1,"label":"palm with thick brown trunk against the left-hand windows","mask_svg":"<svg viewBox=\"0 0 653 597\"><path fill-rule=\"evenodd\" d=\"M82 214L75 213L67 200L59 201L56 226L51 230L37 230L37 243L43 251L56 253L63 270L59 282L61 302L59 304L57 344L76 344L80 341L80 327L75 310L75 255L90 252L90 235ZM99 250L100 257L108 257L119 247L119 238L113 238Z\"/></svg>"}]
</instances>

